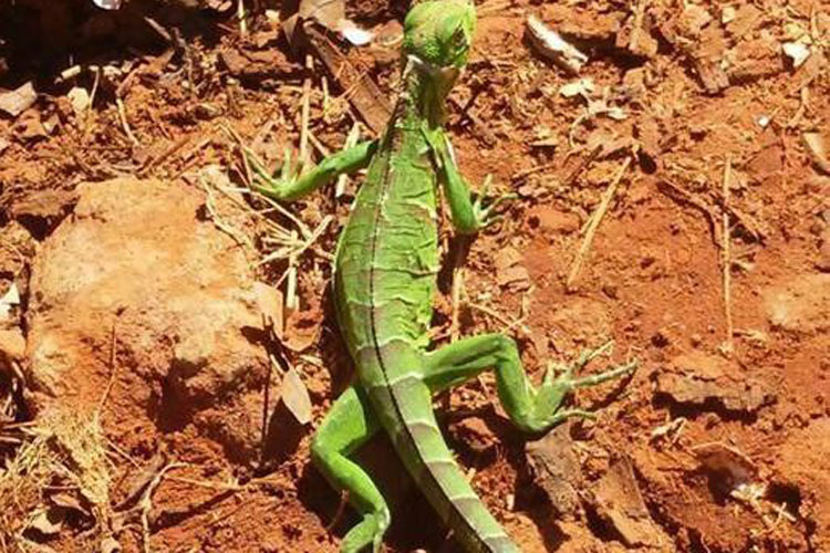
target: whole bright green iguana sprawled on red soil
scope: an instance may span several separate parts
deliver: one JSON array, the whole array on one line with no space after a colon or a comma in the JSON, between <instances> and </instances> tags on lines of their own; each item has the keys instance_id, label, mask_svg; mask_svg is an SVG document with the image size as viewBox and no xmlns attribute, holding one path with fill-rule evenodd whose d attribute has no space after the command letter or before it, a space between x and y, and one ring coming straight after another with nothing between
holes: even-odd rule
<instances>
[{"instance_id":1,"label":"whole bright green iguana sprawled on red soil","mask_svg":"<svg viewBox=\"0 0 830 553\"><path fill-rule=\"evenodd\" d=\"M481 503L447 448L433 414L433 395L494 367L505 410L521 430L541 432L570 416L560 409L572 388L629 374L633 364L584 378L572 368L540 387L526 377L516 343L501 334L468 337L428 351L438 272L436 186L444 187L458 232L492 221L501 197L475 201L442 127L444 104L467 62L476 25L468 0L416 4L404 23L400 97L380 139L325 158L302 176L283 165L279 179L251 159L256 188L278 200L297 199L340 174L369 167L334 261L338 322L359 378L334 403L317 430L311 456L331 484L362 515L342 551L378 551L390 510L369 474L350 455L384 429L429 503L470 552L517 552ZM589 356L583 355L582 364Z\"/></svg>"}]
</instances>

